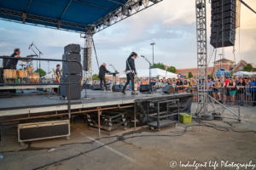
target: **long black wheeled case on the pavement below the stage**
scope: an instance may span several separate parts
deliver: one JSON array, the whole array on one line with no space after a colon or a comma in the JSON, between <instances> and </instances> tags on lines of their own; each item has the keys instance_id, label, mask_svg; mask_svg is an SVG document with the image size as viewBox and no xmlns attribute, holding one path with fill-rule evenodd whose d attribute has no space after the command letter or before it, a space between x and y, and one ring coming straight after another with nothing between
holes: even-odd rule
<instances>
[{"instance_id":1,"label":"long black wheeled case on the pavement below the stage","mask_svg":"<svg viewBox=\"0 0 256 170\"><path fill-rule=\"evenodd\" d=\"M33 122L18 124L18 142L67 137L70 139L70 121Z\"/></svg>"}]
</instances>

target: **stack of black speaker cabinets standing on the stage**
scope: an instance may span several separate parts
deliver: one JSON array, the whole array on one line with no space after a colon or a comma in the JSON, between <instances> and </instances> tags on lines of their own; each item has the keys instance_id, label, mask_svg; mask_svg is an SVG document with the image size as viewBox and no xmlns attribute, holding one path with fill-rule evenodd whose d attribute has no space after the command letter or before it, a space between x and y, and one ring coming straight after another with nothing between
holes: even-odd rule
<instances>
[{"instance_id":1,"label":"stack of black speaker cabinets standing on the stage","mask_svg":"<svg viewBox=\"0 0 256 170\"><path fill-rule=\"evenodd\" d=\"M64 48L63 60L76 60L81 62L80 45L69 44ZM61 82L79 82L82 77L81 65L77 62L62 62L63 76ZM70 77L68 76L70 74ZM70 96L68 85L61 85L61 96L67 99L81 99L81 83L70 84Z\"/></svg>"}]
</instances>

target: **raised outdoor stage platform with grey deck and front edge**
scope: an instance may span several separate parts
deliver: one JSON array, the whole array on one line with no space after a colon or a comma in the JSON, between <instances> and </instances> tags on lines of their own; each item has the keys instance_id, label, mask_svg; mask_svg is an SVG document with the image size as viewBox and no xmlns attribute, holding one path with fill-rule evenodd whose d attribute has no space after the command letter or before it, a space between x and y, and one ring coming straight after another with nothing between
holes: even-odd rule
<instances>
[{"instance_id":1,"label":"raised outdoor stage platform with grey deck and front edge","mask_svg":"<svg viewBox=\"0 0 256 170\"><path fill-rule=\"evenodd\" d=\"M131 95L129 90L126 90L126 95L120 92L93 91L90 89L87 89L87 97L89 98L84 98L85 90L81 94L82 99L71 100L71 114L124 108L133 109L137 100L183 99L183 103L187 103L192 98L191 93L141 94L138 92L138 95ZM64 115L68 115L68 101L60 99L58 95L53 95L51 98L50 94L32 91L32 93L15 94L12 98L0 99L0 122Z\"/></svg>"}]
</instances>

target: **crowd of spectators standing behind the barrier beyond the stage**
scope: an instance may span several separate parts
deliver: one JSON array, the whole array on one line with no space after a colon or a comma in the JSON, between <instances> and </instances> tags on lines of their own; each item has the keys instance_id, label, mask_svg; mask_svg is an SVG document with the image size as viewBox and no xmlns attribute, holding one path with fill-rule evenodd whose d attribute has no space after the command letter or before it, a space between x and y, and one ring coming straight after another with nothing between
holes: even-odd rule
<instances>
[{"instance_id":1,"label":"crowd of spectators standing behind the barrier beyond the stage","mask_svg":"<svg viewBox=\"0 0 256 170\"><path fill-rule=\"evenodd\" d=\"M107 80L107 89L112 85L111 80ZM125 85L125 80L117 79L117 85ZM99 84L100 81L93 81L94 84ZM134 88L139 90L141 85L152 84L154 90L165 88L166 85L172 85L177 93L193 93L194 102L197 102L197 90L202 87L201 80L196 77L192 78L137 78ZM216 103L224 105L244 105L247 101L248 105L256 105L256 77L209 77L206 82L207 94L215 99ZM106 87L104 87L106 88ZM127 86L131 89L131 82ZM218 101L218 102L217 102Z\"/></svg>"}]
</instances>

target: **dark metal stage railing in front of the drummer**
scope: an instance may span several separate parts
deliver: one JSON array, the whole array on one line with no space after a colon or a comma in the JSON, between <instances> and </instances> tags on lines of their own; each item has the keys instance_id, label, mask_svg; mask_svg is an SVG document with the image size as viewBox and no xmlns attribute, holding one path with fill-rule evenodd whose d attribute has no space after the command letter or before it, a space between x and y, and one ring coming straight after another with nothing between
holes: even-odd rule
<instances>
[{"instance_id":1,"label":"dark metal stage railing in front of the drummer","mask_svg":"<svg viewBox=\"0 0 256 170\"><path fill-rule=\"evenodd\" d=\"M7 57L7 56L0 56L0 59L14 59L13 57ZM20 57L18 59L26 59L26 60L44 60L44 61L64 61L64 62L76 62L76 63L79 63L79 65L81 66L81 74L83 72L82 68L82 64L78 61L78 60L69 60L69 59L37 59L37 58L28 58L28 57ZM59 82L59 83L55 83L55 84L58 84L58 85L68 85L68 94L70 96L70 87L71 87L71 84L78 84L78 83L81 83L81 80L82 80L82 75L81 75L81 78L79 80L79 82L70 82L70 72L68 72L68 82ZM11 85L11 86L19 86L19 85L52 85L54 83L1 83L0 85ZM1 89L1 87L0 87ZM70 103L70 98L68 98L68 118L70 118L70 112L71 112L71 103Z\"/></svg>"}]
</instances>

